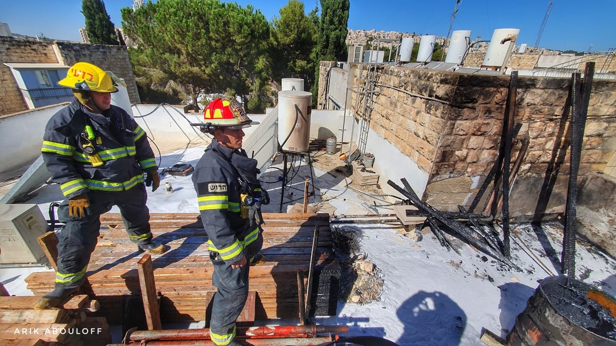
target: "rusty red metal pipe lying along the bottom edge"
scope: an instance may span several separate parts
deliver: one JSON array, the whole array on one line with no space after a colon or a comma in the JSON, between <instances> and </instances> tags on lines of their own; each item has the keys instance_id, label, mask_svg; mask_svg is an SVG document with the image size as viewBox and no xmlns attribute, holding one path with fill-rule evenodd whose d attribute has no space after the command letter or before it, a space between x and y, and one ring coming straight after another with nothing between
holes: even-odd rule
<instances>
[{"instance_id":1,"label":"rusty red metal pipe lying along the bottom edge","mask_svg":"<svg viewBox=\"0 0 616 346\"><path fill-rule=\"evenodd\" d=\"M299 337L325 333L346 333L349 326L259 326L238 327L237 336L242 337ZM209 340L209 329L164 329L161 331L135 331L133 341L150 340Z\"/></svg>"}]
</instances>

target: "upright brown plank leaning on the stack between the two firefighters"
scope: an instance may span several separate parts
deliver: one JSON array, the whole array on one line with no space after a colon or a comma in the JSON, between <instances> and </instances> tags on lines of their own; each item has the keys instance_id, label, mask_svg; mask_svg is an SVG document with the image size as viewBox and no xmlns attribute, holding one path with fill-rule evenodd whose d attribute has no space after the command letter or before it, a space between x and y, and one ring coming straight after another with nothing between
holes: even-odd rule
<instances>
[{"instance_id":1,"label":"upright brown plank leaning on the stack between the two firefighters","mask_svg":"<svg viewBox=\"0 0 616 346\"><path fill-rule=\"evenodd\" d=\"M137 262L137 270L139 271L141 299L144 302L145 321L147 321L148 330L158 331L163 329L163 326L160 322L160 311L158 310L158 300L156 299L152 256L145 254L141 257L139 262Z\"/></svg>"}]
</instances>

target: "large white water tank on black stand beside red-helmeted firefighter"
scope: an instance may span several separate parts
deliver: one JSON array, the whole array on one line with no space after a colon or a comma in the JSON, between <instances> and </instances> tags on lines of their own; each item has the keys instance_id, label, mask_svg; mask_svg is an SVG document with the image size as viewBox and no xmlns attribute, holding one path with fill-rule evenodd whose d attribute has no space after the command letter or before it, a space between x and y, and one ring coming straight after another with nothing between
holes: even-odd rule
<instances>
[{"instance_id":1,"label":"large white water tank on black stand beside red-helmeted firefighter","mask_svg":"<svg viewBox=\"0 0 616 346\"><path fill-rule=\"evenodd\" d=\"M312 92L278 92L278 142L282 150L301 153L310 144Z\"/></svg>"}]
</instances>

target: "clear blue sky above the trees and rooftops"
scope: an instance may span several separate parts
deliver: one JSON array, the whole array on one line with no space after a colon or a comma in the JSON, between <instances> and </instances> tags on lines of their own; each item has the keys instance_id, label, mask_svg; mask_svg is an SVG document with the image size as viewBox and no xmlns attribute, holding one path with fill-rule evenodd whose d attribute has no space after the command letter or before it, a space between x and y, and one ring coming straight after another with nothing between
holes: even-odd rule
<instances>
[{"instance_id":1,"label":"clear blue sky above the trees and rooftops","mask_svg":"<svg viewBox=\"0 0 616 346\"><path fill-rule=\"evenodd\" d=\"M103 0L104 1L104 0ZM120 9L132 0L107 0L105 7L116 26ZM318 0L304 0L306 11ZM471 30L472 38L489 40L495 29L518 28L518 44L534 46L550 0L461 0L453 30ZM252 4L267 20L278 16L288 0L243 0ZM348 27L353 30L400 31L447 35L456 0L351 0ZM0 0L0 22L14 33L80 41L84 26L81 0ZM540 47L557 50L607 50L616 48L616 0L553 0Z\"/></svg>"}]
</instances>

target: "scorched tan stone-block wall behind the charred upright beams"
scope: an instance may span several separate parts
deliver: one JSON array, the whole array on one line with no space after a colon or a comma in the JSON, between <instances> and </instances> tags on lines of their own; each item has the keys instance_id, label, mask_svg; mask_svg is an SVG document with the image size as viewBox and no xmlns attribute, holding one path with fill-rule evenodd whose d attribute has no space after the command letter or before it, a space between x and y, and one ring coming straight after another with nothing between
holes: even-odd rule
<instances>
[{"instance_id":1,"label":"scorched tan stone-block wall behind the charred upright beams","mask_svg":"<svg viewBox=\"0 0 616 346\"><path fill-rule=\"evenodd\" d=\"M323 67L328 65L322 64ZM352 87L367 78L351 64ZM377 67L370 128L428 173L425 197L443 210L468 206L498 157L509 76ZM320 76L322 86L324 75ZM511 190L510 212L543 217L564 212L569 175L570 79L520 76L515 122L529 147ZM323 94L319 94L319 103ZM362 115L355 97L351 113ZM602 172L616 150L616 81L593 81L579 175ZM521 143L513 148L512 162ZM487 195L487 194L486 194ZM480 206L485 205L484 203Z\"/></svg>"}]
</instances>

